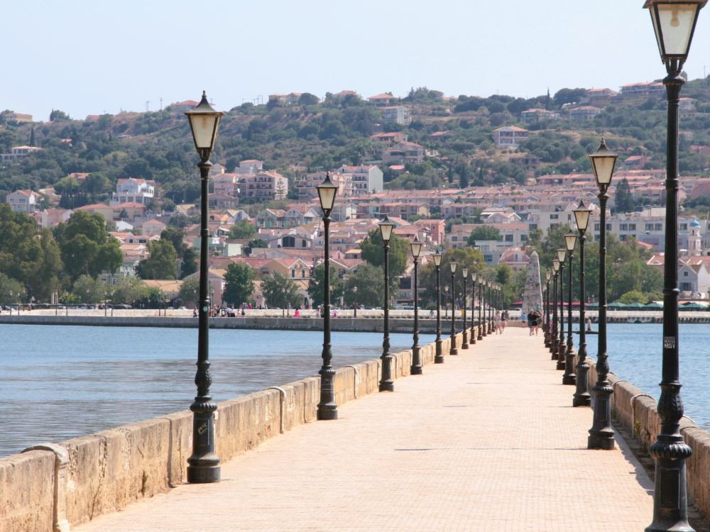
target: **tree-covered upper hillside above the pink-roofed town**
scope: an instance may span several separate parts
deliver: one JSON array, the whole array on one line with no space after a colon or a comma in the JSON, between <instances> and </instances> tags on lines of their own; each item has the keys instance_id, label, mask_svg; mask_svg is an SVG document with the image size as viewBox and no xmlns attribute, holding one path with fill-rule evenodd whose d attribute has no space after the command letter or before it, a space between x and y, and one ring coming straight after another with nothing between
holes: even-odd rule
<instances>
[{"instance_id":1,"label":"tree-covered upper hillside above the pink-roofed town","mask_svg":"<svg viewBox=\"0 0 710 532\"><path fill-rule=\"evenodd\" d=\"M710 146L709 81L689 82L682 92L684 98L694 99L692 111L681 116L682 173L710 167L709 155L689 151L690 145ZM645 167L665 164L665 92L615 96L595 103L601 112L589 121L574 120L569 109L584 104L585 93L584 89L562 89L554 96L532 99L503 95L444 99L440 92L420 88L397 103L410 108L408 126L381 125L382 108L354 96L328 94L317 102L315 96L305 94L290 106L246 103L224 116L212 161L229 171L239 160L259 159L265 168L293 178L300 172L378 160L381 145L370 135L401 131L411 142L424 146L427 157L420 165L408 165L404 174L383 167L389 187L523 183L533 173L588 172L586 154L596 149L601 135L622 159L643 155ZM525 123L520 113L531 108L557 111L559 117ZM55 111L55 120L33 124L13 123L9 116L10 111L0 113L0 152L30 143L43 150L0 168L0 199L15 189L40 189L46 184L56 184L61 192L75 186L65 179L72 172L97 176L91 184L82 185L86 202L102 198L122 177L155 179L165 198L195 201L199 195L197 155L187 120L170 107L83 121ZM493 130L510 125L530 130L529 140L515 150L494 147ZM510 162L520 155L536 158L535 170Z\"/></svg>"}]
</instances>

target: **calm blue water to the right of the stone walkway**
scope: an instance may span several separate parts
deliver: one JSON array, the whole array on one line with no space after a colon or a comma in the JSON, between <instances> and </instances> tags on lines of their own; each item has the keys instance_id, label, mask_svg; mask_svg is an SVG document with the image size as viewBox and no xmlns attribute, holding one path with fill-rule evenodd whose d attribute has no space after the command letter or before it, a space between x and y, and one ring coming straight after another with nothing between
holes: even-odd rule
<instances>
[{"instance_id":1,"label":"calm blue water to the right of the stone walkway","mask_svg":"<svg viewBox=\"0 0 710 532\"><path fill-rule=\"evenodd\" d=\"M662 324L610 323L607 351L611 372L628 380L656 399L660 394ZM594 326L596 331L596 325ZM710 324L685 323L679 328L681 397L685 415L699 426L710 429L710 360L707 345ZM574 336L577 349L579 336ZM587 353L596 359L596 335L586 337Z\"/></svg>"}]
</instances>

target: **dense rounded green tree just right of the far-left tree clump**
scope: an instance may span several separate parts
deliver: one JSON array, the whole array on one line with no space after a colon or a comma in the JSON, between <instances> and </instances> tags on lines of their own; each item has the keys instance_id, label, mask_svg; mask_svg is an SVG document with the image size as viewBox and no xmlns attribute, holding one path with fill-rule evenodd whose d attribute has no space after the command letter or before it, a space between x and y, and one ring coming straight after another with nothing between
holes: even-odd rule
<instances>
[{"instance_id":1,"label":"dense rounded green tree just right of the far-left tree clump","mask_svg":"<svg viewBox=\"0 0 710 532\"><path fill-rule=\"evenodd\" d=\"M55 229L55 237L72 280L82 274L96 277L103 271L115 272L124 262L119 241L109 235L100 214L75 211Z\"/></svg>"}]
</instances>

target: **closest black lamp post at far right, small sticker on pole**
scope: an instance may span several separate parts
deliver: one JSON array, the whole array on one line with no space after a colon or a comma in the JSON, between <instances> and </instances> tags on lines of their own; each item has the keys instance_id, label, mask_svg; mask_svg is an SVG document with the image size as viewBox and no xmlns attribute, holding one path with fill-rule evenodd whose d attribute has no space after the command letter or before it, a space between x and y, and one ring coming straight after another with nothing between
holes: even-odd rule
<instances>
[{"instance_id":1,"label":"closest black lamp post at far right, small sticker on pole","mask_svg":"<svg viewBox=\"0 0 710 532\"><path fill-rule=\"evenodd\" d=\"M678 106L683 64L706 0L646 0L658 50L665 63L668 98L665 262L663 279L663 365L658 399L660 433L650 447L655 458L653 522L646 531L692 531L688 524L685 460L692 450L679 432L683 416L678 368Z\"/></svg>"}]
</instances>

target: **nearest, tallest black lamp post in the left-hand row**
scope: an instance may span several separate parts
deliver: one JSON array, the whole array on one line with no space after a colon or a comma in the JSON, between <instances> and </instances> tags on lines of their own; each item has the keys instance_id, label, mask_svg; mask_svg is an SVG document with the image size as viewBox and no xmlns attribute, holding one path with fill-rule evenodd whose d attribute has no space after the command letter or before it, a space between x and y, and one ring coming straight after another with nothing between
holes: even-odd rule
<instances>
[{"instance_id":1,"label":"nearest, tallest black lamp post in the left-hand row","mask_svg":"<svg viewBox=\"0 0 710 532\"><path fill-rule=\"evenodd\" d=\"M207 95L202 92L202 100L195 109L186 111L187 120L190 122L192 139L200 155L200 314L197 338L197 373L195 384L197 396L190 405L192 411L192 455L187 458L187 482L207 483L219 482L220 467L219 457L214 450L214 411L217 403L209 395L209 386L212 377L209 375L209 299L207 297L207 194L209 184L209 155L214 148L219 131L219 122L222 113L212 109L207 102Z\"/></svg>"}]
</instances>

